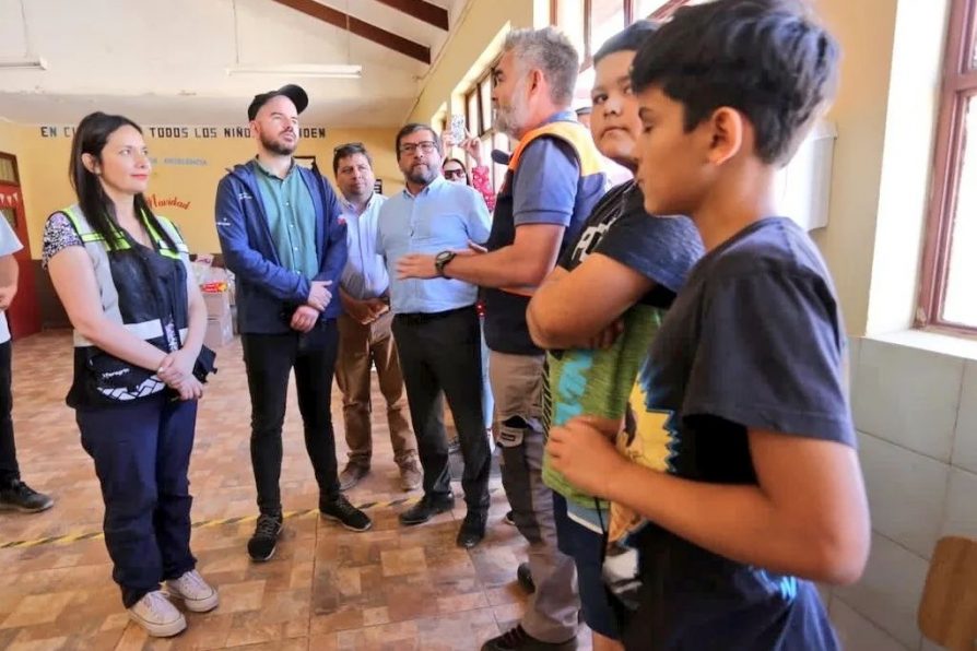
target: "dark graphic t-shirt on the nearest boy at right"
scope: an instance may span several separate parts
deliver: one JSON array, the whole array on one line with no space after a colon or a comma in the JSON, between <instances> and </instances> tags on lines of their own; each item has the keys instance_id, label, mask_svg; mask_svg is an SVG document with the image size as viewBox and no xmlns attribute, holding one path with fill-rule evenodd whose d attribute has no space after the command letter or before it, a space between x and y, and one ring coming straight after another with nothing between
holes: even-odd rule
<instances>
[{"instance_id":1,"label":"dark graphic t-shirt on the nearest boy at right","mask_svg":"<svg viewBox=\"0 0 977 651\"><path fill-rule=\"evenodd\" d=\"M713 484L756 484L748 430L855 446L831 279L793 222L705 256L643 363L619 449ZM612 505L604 578L628 649L836 649L815 588L708 552Z\"/></svg>"}]
</instances>

